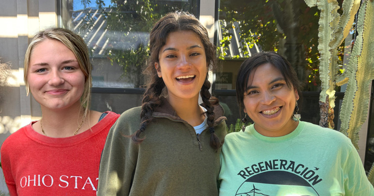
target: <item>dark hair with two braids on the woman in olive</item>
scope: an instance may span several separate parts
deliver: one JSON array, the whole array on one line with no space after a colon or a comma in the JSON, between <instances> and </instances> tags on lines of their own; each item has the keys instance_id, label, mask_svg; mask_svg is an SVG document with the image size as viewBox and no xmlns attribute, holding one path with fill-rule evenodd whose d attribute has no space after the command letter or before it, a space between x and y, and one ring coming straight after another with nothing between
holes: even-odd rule
<instances>
[{"instance_id":1,"label":"dark hair with two braids on the woman in olive","mask_svg":"<svg viewBox=\"0 0 374 196\"><path fill-rule=\"evenodd\" d=\"M154 108L161 104L161 95L165 88L165 83L162 78L159 78L155 69L155 62L159 62L159 51L166 44L166 38L171 32L175 31L192 31L200 37L204 45L207 64L210 69L216 67L216 48L210 42L208 32L195 16L186 12L168 13L162 17L152 28L150 33L150 57L148 59L147 67L143 74L146 79L146 91L142 101L141 126L132 135L132 140L136 143L141 143L144 138L140 138L147 125L153 120L152 114ZM218 137L214 133L214 112L213 104L218 103L218 99L211 96L209 92L210 82L208 81L208 74L205 82L201 88L200 95L207 109L207 124L211 133L210 146L218 149L222 146Z\"/></svg>"}]
</instances>

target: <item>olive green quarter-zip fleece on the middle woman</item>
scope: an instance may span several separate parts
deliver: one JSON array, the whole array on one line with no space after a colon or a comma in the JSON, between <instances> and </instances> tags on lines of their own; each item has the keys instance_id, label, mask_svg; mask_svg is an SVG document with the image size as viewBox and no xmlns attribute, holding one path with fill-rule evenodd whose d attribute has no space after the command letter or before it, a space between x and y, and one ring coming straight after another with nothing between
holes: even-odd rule
<instances>
[{"instance_id":1,"label":"olive green quarter-zip fleece on the middle woman","mask_svg":"<svg viewBox=\"0 0 374 196\"><path fill-rule=\"evenodd\" d=\"M154 120L135 144L141 107L121 114L111 128L102 154L98 195L218 195L219 153L210 146L205 129L196 135L192 125L178 117L162 99ZM226 117L215 105L214 129L223 141Z\"/></svg>"}]
</instances>

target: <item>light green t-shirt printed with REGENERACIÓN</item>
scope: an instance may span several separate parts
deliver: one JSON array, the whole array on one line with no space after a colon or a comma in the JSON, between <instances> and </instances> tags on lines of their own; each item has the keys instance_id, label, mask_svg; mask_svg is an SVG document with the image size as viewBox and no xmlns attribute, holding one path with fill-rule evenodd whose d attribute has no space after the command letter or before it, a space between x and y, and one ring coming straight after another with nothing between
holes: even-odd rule
<instances>
[{"instance_id":1,"label":"light green t-shirt printed with REGENERACI\u00d3N","mask_svg":"<svg viewBox=\"0 0 374 196\"><path fill-rule=\"evenodd\" d=\"M254 125L225 138L219 195L374 195L350 140L300 121L282 137Z\"/></svg>"}]
</instances>

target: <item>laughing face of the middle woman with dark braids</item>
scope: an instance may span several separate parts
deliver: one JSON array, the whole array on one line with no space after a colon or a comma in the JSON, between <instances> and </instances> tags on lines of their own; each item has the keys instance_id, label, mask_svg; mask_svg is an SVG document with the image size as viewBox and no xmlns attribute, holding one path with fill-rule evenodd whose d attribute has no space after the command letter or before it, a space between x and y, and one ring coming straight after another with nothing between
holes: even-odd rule
<instances>
[{"instance_id":1,"label":"laughing face of the middle woman with dark braids","mask_svg":"<svg viewBox=\"0 0 374 196\"><path fill-rule=\"evenodd\" d=\"M169 99L198 99L208 71L201 39L192 31L171 32L155 68Z\"/></svg>"}]
</instances>

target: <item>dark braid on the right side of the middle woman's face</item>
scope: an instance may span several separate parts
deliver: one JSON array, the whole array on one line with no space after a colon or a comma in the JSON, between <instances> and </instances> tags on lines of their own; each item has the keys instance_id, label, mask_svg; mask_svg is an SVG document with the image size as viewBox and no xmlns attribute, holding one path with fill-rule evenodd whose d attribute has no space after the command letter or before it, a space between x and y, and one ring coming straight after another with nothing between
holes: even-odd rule
<instances>
[{"instance_id":1,"label":"dark braid on the right side of the middle woman's face","mask_svg":"<svg viewBox=\"0 0 374 196\"><path fill-rule=\"evenodd\" d=\"M209 92L210 88L210 82L208 81L208 77L205 79L205 82L203 84L203 87L201 88L200 95L201 98L204 102L205 109L207 109L207 124L209 127L209 132L210 132L210 146L214 149L219 149L222 146L221 141L219 141L219 138L217 135L214 133L214 106L210 102L211 94ZM213 97L212 97L213 98ZM218 100L214 98L215 103L218 103Z\"/></svg>"}]
</instances>

